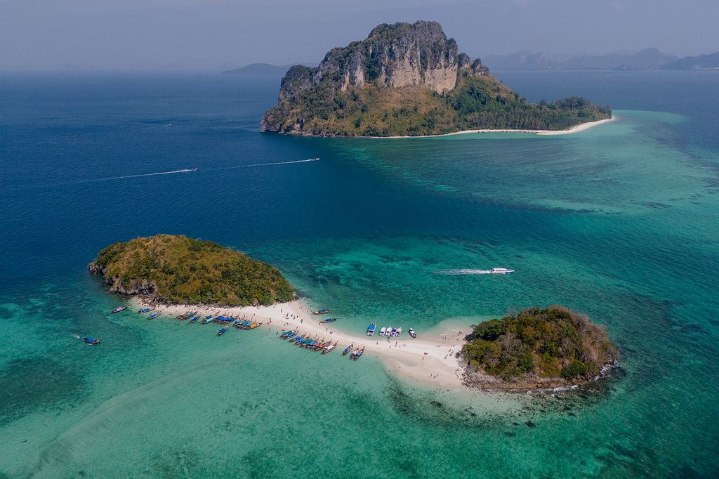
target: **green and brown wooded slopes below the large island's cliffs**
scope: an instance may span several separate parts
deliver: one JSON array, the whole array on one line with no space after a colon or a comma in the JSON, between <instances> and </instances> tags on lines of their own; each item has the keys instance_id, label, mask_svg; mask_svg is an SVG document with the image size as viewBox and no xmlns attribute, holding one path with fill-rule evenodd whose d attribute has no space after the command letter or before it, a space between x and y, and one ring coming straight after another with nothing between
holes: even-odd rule
<instances>
[{"instance_id":1,"label":"green and brown wooded slopes below the large island's cliffs","mask_svg":"<svg viewBox=\"0 0 719 479\"><path fill-rule=\"evenodd\" d=\"M444 94L422 87L362 86L332 93L313 88L283 106L287 126L303 118L303 134L392 137L445 134L467 129L567 129L611 116L610 109L580 97L532 104L492 76L462 72Z\"/></svg>"}]
</instances>

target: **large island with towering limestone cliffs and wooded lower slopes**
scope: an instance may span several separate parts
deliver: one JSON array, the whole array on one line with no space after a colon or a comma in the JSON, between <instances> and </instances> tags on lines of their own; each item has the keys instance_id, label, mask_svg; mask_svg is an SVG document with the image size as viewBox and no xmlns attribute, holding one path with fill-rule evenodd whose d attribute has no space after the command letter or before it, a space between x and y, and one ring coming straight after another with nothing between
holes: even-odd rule
<instances>
[{"instance_id":1,"label":"large island with towering limestone cliffs and wooded lower slopes","mask_svg":"<svg viewBox=\"0 0 719 479\"><path fill-rule=\"evenodd\" d=\"M294 65L262 132L393 137L472 129L563 130L609 119L580 97L532 104L459 53L439 23L380 24L366 40Z\"/></svg>"}]
</instances>

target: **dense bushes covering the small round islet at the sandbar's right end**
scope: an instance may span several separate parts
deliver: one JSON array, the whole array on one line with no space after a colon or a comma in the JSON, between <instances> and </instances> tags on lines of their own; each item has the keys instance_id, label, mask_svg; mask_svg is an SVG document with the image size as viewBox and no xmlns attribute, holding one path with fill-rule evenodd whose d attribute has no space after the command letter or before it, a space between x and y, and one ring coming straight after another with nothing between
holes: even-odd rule
<instances>
[{"instance_id":1,"label":"dense bushes covering the small round islet at the sandbar's right end","mask_svg":"<svg viewBox=\"0 0 719 479\"><path fill-rule=\"evenodd\" d=\"M466 339L470 368L505 381L587 380L618 355L604 327L562 306L484 321Z\"/></svg>"}]
</instances>

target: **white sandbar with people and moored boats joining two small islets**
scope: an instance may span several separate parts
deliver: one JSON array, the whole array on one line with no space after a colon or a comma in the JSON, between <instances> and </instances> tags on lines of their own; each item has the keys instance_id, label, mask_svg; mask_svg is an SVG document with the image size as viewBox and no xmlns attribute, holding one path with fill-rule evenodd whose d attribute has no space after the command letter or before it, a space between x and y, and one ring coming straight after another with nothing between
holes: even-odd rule
<instances>
[{"instance_id":1,"label":"white sandbar with people and moored boats joining two small islets","mask_svg":"<svg viewBox=\"0 0 719 479\"><path fill-rule=\"evenodd\" d=\"M337 341L337 347L330 352L330 357L340 357L342 350L350 344L354 347L364 346L365 355L380 357L385 367L391 373L413 381L429 384L441 388L464 389L462 375L464 368L461 362L454 357L454 353L462 349L464 334L447 332L445 334L425 334L418 332L418 338L409 336L408 327L403 326L401 337L378 336L382 324L377 324L375 336L354 336L336 328L336 322L321 324L319 321L332 315L319 316L311 313L308 305L302 300L289 303L274 304L273 306L242 306L234 308L217 308L211 306L195 305L166 305L145 302L142 298L132 298L133 307L155 306L162 315L152 321L175 321L175 316L188 311L198 311L201 316L209 314L229 314L235 318L246 318L262 322L262 328L276 331L296 329L301 334L311 334L319 339ZM145 318L145 316L142 316ZM341 320L340 320L341 321ZM198 321L199 323L200 321ZM368 323L369 324L369 323ZM207 325L196 324L197 327ZM213 324L213 327L216 324ZM219 328L217 328L219 329ZM470 325L467 324L467 331ZM242 333L242 331L240 331ZM216 333L214 331L214 333ZM290 347L290 346L288 346ZM320 354L319 352L317 354ZM345 358L347 359L347 358ZM349 360L349 359L347 359Z\"/></svg>"}]
</instances>

